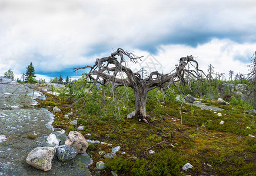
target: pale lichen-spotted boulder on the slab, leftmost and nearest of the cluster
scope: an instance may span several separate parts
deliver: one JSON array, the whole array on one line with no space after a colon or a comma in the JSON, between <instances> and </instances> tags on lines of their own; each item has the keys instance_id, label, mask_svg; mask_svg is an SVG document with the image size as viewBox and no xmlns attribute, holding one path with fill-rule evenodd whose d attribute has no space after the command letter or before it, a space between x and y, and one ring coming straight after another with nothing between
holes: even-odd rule
<instances>
[{"instance_id":1,"label":"pale lichen-spotted boulder on the slab, leftmost and nearest of the cluster","mask_svg":"<svg viewBox=\"0 0 256 176\"><path fill-rule=\"evenodd\" d=\"M49 171L52 168L52 158L54 158L54 155L54 147L37 147L28 154L26 163L39 170Z\"/></svg>"}]
</instances>

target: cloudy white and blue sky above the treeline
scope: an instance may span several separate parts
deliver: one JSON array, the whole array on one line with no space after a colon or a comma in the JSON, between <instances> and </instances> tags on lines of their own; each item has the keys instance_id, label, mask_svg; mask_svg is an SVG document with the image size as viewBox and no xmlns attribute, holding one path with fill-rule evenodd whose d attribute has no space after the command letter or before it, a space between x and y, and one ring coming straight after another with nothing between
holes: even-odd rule
<instances>
[{"instance_id":1,"label":"cloudy white and blue sky above the treeline","mask_svg":"<svg viewBox=\"0 0 256 176\"><path fill-rule=\"evenodd\" d=\"M255 0L0 0L0 76L12 69L20 78L32 62L37 79L74 77L73 67L117 48L160 72L193 55L205 72L211 64L215 72L246 74L256 50L255 9Z\"/></svg>"}]
</instances>

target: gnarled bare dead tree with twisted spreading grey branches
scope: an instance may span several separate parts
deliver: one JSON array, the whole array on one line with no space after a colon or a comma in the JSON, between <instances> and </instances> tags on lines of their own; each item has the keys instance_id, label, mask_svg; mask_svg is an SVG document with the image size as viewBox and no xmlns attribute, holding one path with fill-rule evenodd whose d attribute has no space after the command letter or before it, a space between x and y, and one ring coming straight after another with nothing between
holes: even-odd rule
<instances>
[{"instance_id":1,"label":"gnarled bare dead tree with twisted spreading grey branches","mask_svg":"<svg viewBox=\"0 0 256 176\"><path fill-rule=\"evenodd\" d=\"M113 86L117 87L131 87L135 98L135 117L145 121L145 123L148 123L146 101L149 90L155 89L156 87L166 90L169 89L171 84L175 86L176 82L188 84L186 77L192 76L201 79L202 73L204 73L198 69L198 63L194 60L194 57L187 56L179 59L179 65L176 65L175 70L171 73L162 74L155 71L143 79L141 72L132 72L127 66L127 60L125 59L138 63L141 57L137 57L132 52L118 48L110 56L97 59L93 66L74 68L74 72L79 69L89 68L90 70L85 79L89 77L89 79L93 80L92 87L96 83L106 84L108 82L111 82ZM86 98L87 95L83 98Z\"/></svg>"}]
</instances>

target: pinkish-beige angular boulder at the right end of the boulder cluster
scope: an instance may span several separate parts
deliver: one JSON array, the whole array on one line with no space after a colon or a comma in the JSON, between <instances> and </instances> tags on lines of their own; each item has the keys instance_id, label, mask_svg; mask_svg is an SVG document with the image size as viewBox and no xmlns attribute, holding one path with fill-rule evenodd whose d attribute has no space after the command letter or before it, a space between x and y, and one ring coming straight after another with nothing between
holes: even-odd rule
<instances>
[{"instance_id":1,"label":"pinkish-beige angular boulder at the right end of the boulder cluster","mask_svg":"<svg viewBox=\"0 0 256 176\"><path fill-rule=\"evenodd\" d=\"M65 144L74 147L77 153L85 153L88 147L87 140L78 131L70 131Z\"/></svg>"}]
</instances>

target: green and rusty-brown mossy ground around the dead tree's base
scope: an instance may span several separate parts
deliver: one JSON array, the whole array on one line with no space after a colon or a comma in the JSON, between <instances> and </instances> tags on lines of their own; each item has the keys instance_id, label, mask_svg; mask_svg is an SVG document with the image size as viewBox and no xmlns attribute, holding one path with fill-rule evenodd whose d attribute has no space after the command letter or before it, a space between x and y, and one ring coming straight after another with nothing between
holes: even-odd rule
<instances>
[{"instance_id":1,"label":"green and rusty-brown mossy ground around the dead tree's base","mask_svg":"<svg viewBox=\"0 0 256 176\"><path fill-rule=\"evenodd\" d=\"M58 106L62 111L55 113L54 127L64 129L67 134L84 126L81 133L87 139L121 146L125 154L119 151L114 160L104 160L98 151L110 152L112 147L89 145L88 154L94 160L89 167L92 175L112 175L111 171L118 175L256 175L256 138L248 136L256 136L256 116L246 114L244 107L202 100L225 109L214 112L188 104L181 106L174 99L161 103L149 94L147 115L152 124L149 125L135 117L125 118L134 106L132 93L127 96L127 104L118 107L118 111L111 94L101 92L92 93L85 104L75 106L72 103L76 99L72 97L46 94L47 99L39 106L50 111ZM74 115L65 119L65 114L71 111ZM72 126L71 120L77 120L77 126ZM224 124L220 124L221 120ZM88 133L91 136L85 135ZM149 154L149 150L155 154ZM95 169L97 161L105 161L107 168ZM182 171L186 163L193 168Z\"/></svg>"}]
</instances>

